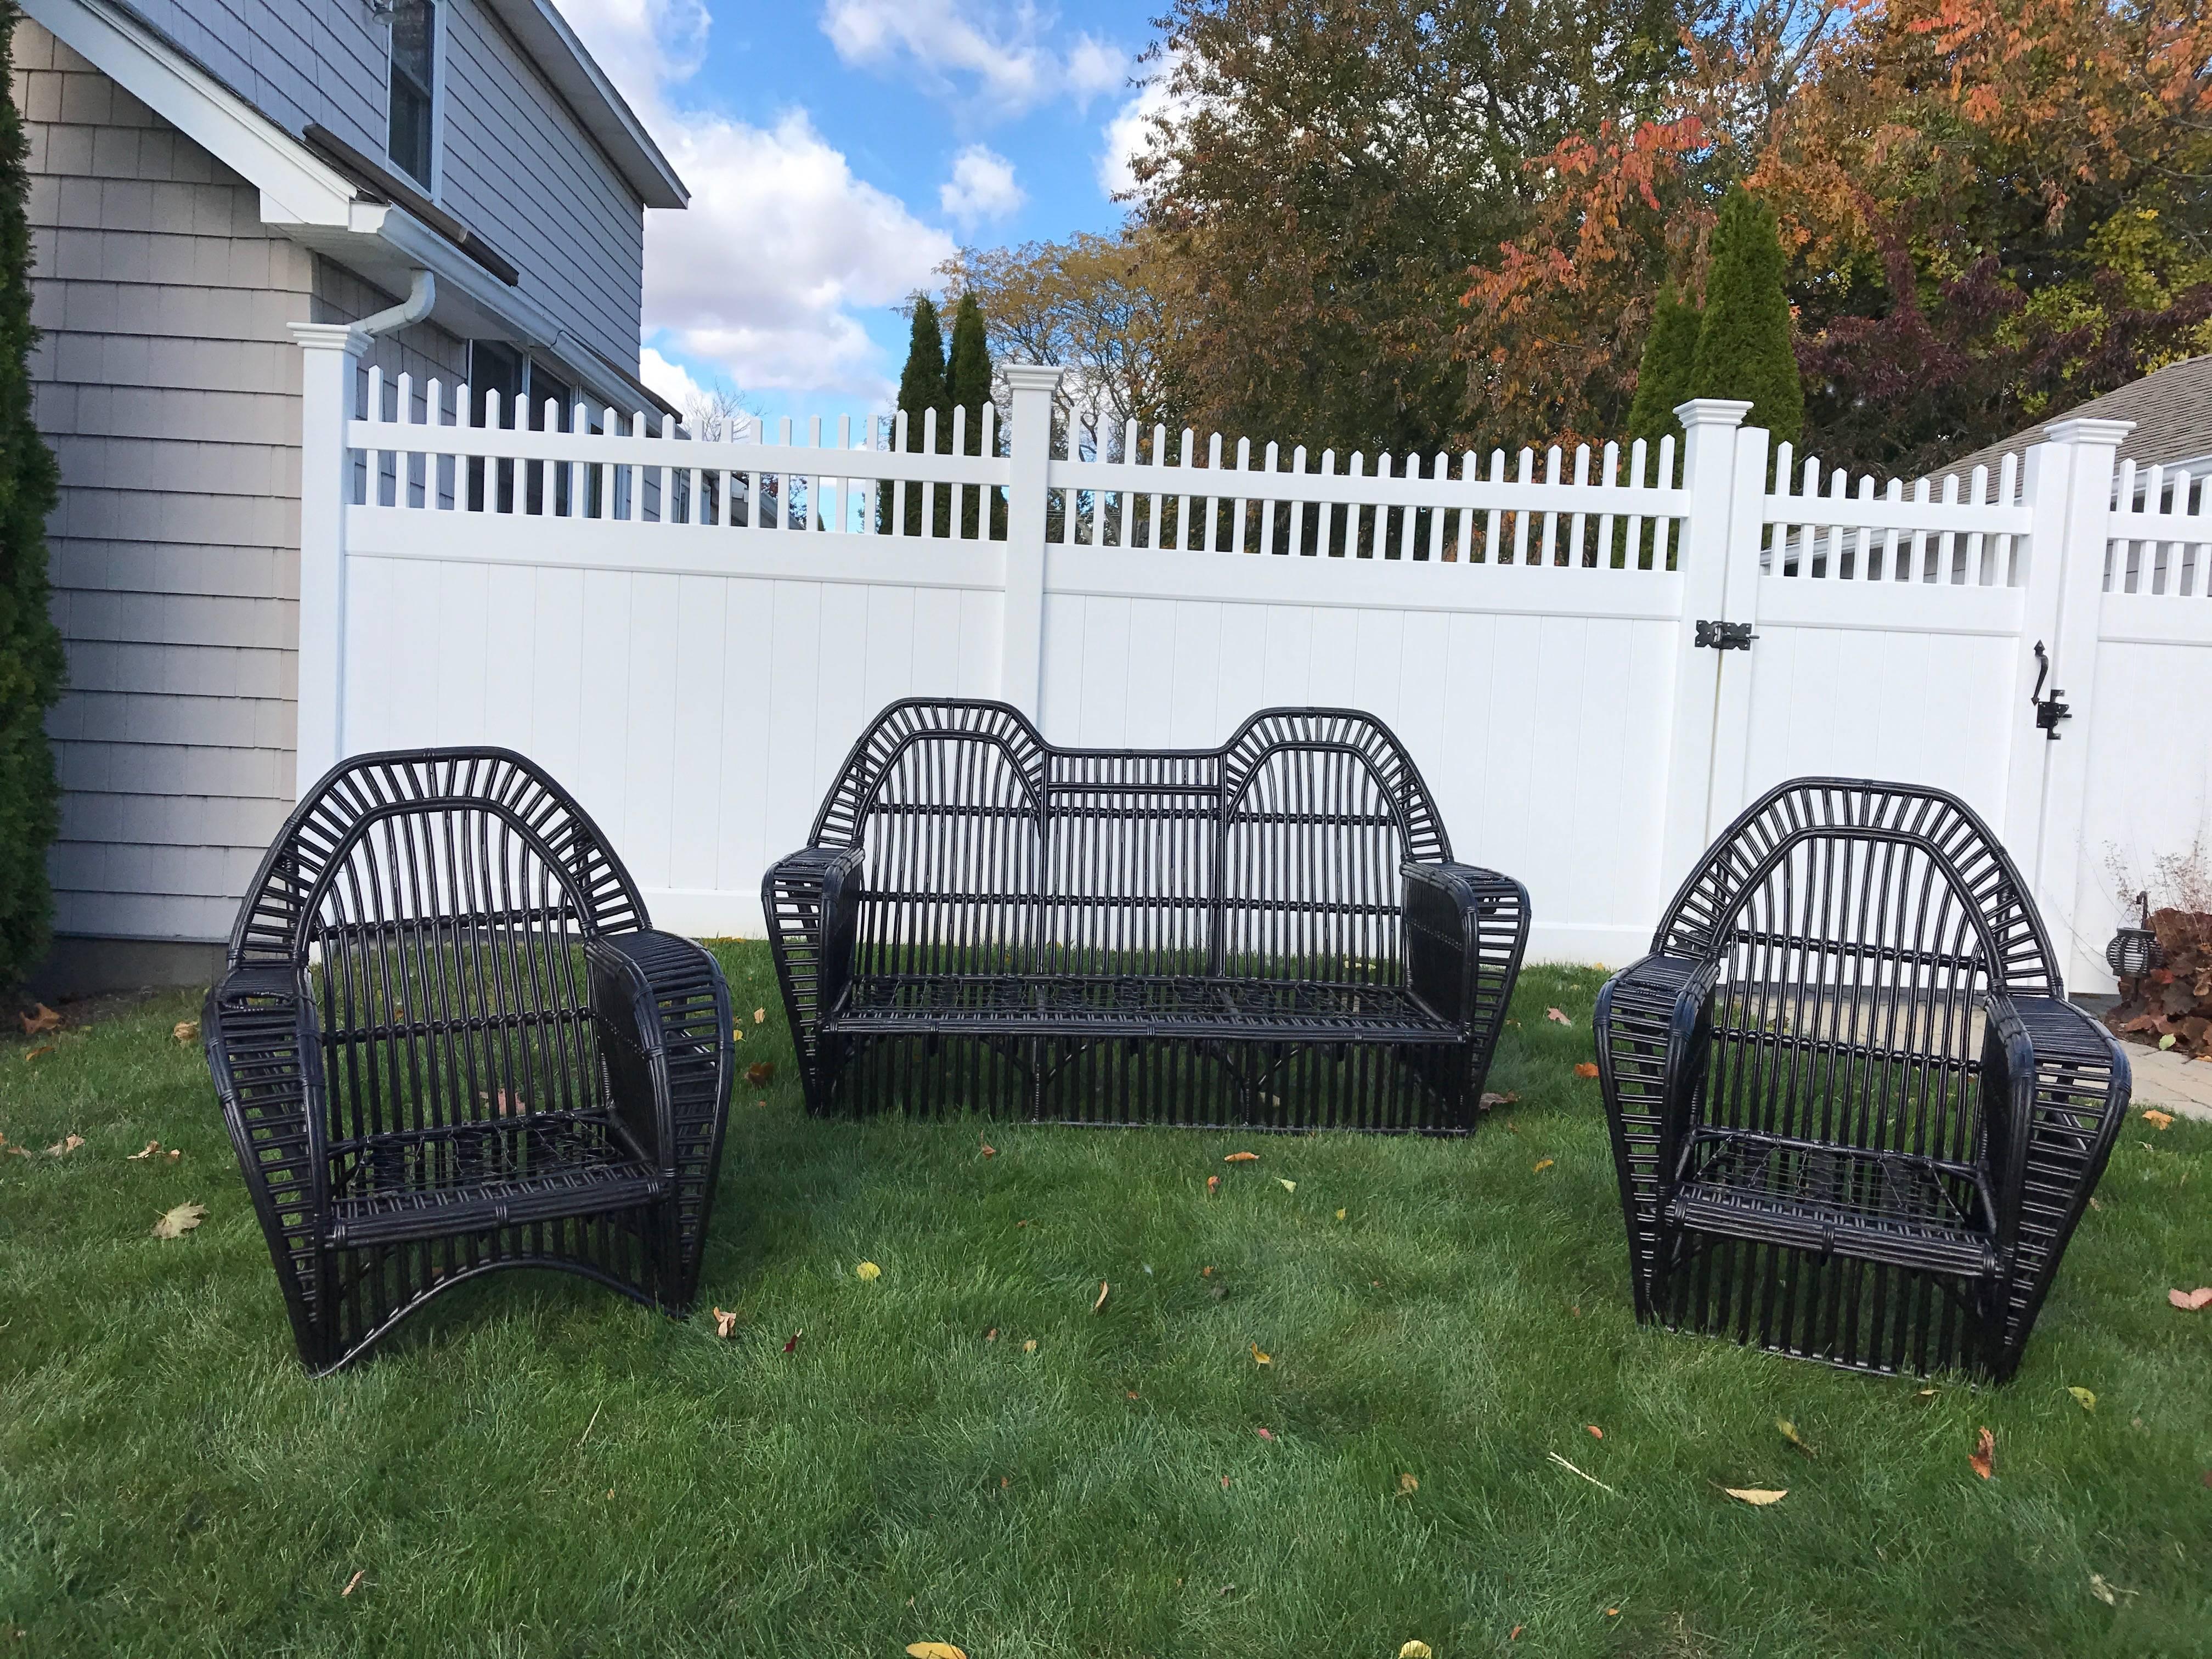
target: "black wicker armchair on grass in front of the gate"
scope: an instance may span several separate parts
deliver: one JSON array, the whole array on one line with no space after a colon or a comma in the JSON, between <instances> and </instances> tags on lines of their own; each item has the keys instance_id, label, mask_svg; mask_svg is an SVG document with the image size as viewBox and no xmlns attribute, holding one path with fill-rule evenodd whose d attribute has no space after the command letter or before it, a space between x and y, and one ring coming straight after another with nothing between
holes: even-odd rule
<instances>
[{"instance_id":1,"label":"black wicker armchair on grass in front of the gate","mask_svg":"<svg viewBox=\"0 0 2212 1659\"><path fill-rule=\"evenodd\" d=\"M1597 1000L1637 1316L1860 1371L2020 1365L2128 1110L2004 849L1798 779Z\"/></svg>"}]
</instances>

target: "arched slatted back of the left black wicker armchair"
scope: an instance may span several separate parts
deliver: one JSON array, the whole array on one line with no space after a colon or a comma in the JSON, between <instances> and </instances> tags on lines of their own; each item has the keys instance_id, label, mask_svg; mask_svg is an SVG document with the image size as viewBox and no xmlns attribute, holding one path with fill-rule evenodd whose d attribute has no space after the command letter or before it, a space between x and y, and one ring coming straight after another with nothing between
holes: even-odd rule
<instances>
[{"instance_id":1,"label":"arched slatted back of the left black wicker armchair","mask_svg":"<svg viewBox=\"0 0 2212 1659\"><path fill-rule=\"evenodd\" d=\"M599 1110L584 940L639 927L597 825L520 754L363 754L270 847L230 964L307 973L332 1186L361 1192L420 1179L356 1168L372 1137Z\"/></svg>"}]
</instances>

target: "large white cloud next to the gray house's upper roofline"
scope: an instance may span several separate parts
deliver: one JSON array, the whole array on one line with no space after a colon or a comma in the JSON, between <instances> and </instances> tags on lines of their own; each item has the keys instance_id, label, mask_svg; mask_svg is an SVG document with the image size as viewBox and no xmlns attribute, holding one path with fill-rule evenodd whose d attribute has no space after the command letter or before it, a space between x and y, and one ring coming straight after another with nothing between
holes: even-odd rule
<instances>
[{"instance_id":1,"label":"large white cloud next to the gray house's upper roofline","mask_svg":"<svg viewBox=\"0 0 2212 1659\"><path fill-rule=\"evenodd\" d=\"M887 396L854 307L927 285L953 239L854 177L805 111L754 126L677 104L706 44L699 0L564 11L692 192L681 212L646 215L646 334L745 392Z\"/></svg>"}]
</instances>

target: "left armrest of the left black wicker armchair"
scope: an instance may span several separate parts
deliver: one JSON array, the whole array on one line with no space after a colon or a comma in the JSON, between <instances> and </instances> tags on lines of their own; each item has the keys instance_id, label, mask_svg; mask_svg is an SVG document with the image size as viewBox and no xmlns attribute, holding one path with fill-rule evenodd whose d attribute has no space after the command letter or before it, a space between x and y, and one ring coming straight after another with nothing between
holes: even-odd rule
<instances>
[{"instance_id":1,"label":"left armrest of the left black wicker armchair","mask_svg":"<svg viewBox=\"0 0 2212 1659\"><path fill-rule=\"evenodd\" d=\"M330 1210L323 1042L314 998L290 967L243 967L201 1006L199 1037L223 1126L268 1237L276 1272L312 1301L321 1223Z\"/></svg>"}]
</instances>

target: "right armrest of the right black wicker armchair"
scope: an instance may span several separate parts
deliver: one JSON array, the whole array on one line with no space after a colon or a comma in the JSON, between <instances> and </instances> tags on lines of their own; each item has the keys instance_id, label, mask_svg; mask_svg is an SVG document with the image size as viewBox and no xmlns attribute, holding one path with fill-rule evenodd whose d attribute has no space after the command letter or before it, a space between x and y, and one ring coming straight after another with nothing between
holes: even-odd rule
<instances>
[{"instance_id":1,"label":"right armrest of the right black wicker armchair","mask_svg":"<svg viewBox=\"0 0 2212 1659\"><path fill-rule=\"evenodd\" d=\"M2126 1051L2057 998L1993 995L1982 1037L1982 1157L2011 1261L2000 1374L2020 1360L2066 1241L2128 1117Z\"/></svg>"}]
</instances>

